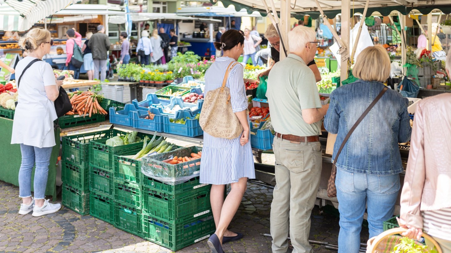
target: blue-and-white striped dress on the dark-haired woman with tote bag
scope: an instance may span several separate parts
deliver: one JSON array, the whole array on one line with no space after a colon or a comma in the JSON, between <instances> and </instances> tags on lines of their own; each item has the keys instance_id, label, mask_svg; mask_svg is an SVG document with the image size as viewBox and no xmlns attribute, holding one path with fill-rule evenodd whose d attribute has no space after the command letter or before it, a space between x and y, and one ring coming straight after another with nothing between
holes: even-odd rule
<instances>
[{"instance_id":1,"label":"blue-and-white striped dress on the dark-haired woman with tote bag","mask_svg":"<svg viewBox=\"0 0 451 253\"><path fill-rule=\"evenodd\" d=\"M226 68L234 59L217 58L205 73L205 94L222 86ZM230 72L226 86L230 89L234 113L247 109L246 89L243 83L243 65L236 65ZM253 154L250 141L241 146L239 138L228 140L203 134L200 182L202 184L226 185L236 183L242 177L255 178ZM250 138L250 137L249 137Z\"/></svg>"}]
</instances>

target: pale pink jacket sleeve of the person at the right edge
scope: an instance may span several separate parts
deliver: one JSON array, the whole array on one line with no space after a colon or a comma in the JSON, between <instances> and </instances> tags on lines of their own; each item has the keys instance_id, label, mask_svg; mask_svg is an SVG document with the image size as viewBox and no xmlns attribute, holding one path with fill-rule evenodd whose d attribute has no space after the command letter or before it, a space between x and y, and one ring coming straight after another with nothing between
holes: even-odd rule
<instances>
[{"instance_id":1,"label":"pale pink jacket sleeve of the person at the right edge","mask_svg":"<svg viewBox=\"0 0 451 253\"><path fill-rule=\"evenodd\" d=\"M423 228L421 216L421 197L426 180L426 166L424 159L423 115L417 106L415 124L410 141L409 162L404 177L400 199L400 218L408 227Z\"/></svg>"}]
</instances>

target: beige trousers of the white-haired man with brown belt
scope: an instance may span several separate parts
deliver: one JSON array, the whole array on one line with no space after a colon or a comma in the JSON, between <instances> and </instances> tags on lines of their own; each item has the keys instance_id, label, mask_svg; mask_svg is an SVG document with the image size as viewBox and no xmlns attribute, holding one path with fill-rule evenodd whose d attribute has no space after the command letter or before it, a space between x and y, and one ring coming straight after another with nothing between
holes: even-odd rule
<instances>
[{"instance_id":1,"label":"beige trousers of the white-haired man with brown belt","mask_svg":"<svg viewBox=\"0 0 451 253\"><path fill-rule=\"evenodd\" d=\"M272 252L286 253L290 235L293 253L312 253L308 236L322 170L321 144L292 143L275 137L273 150L276 187L271 204Z\"/></svg>"}]
</instances>

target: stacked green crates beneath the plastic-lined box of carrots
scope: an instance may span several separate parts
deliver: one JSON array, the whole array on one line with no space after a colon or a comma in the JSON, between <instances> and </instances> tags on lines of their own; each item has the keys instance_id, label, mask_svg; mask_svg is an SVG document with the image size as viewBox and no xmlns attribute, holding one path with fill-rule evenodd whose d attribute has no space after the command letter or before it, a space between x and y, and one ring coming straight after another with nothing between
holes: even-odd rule
<instances>
[{"instance_id":1,"label":"stacked green crates beneath the plastic-lined box of carrots","mask_svg":"<svg viewBox=\"0 0 451 253\"><path fill-rule=\"evenodd\" d=\"M216 230L210 189L199 177L168 185L143 176L143 238L174 251L208 238Z\"/></svg>"}]
</instances>

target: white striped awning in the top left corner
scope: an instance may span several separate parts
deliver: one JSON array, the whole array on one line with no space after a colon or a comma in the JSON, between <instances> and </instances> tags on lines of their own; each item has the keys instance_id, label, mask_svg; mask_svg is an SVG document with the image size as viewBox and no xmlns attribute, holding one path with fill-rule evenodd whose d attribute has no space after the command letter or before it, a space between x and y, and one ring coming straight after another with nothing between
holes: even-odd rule
<instances>
[{"instance_id":1,"label":"white striped awning in the top left corner","mask_svg":"<svg viewBox=\"0 0 451 253\"><path fill-rule=\"evenodd\" d=\"M23 32L79 0L0 0L0 30Z\"/></svg>"}]
</instances>

